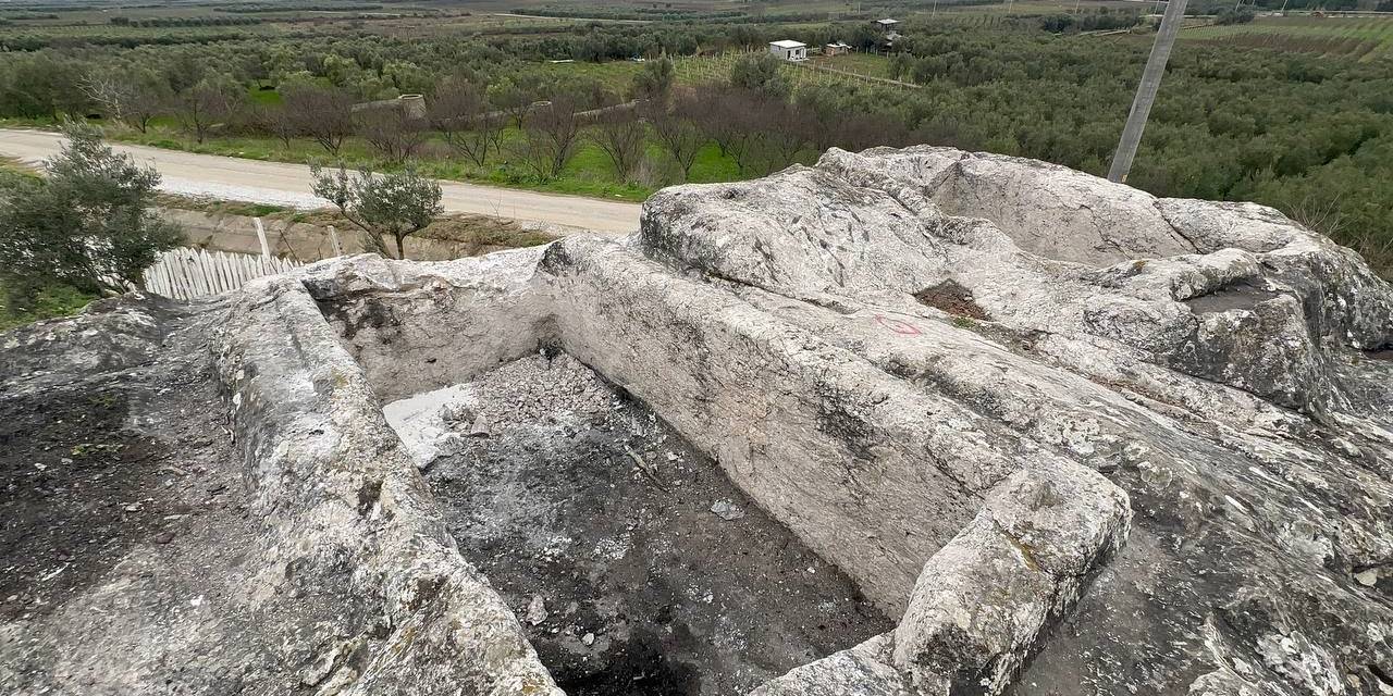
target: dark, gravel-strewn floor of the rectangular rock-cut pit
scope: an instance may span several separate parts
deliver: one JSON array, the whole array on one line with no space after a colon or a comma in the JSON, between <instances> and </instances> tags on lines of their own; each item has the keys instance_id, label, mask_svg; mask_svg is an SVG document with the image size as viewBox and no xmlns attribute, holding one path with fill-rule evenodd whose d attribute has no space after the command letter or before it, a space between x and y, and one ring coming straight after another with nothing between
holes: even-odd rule
<instances>
[{"instance_id":1,"label":"dark, gravel-strewn floor of the rectangular rock-cut pit","mask_svg":"<svg viewBox=\"0 0 1393 696\"><path fill-rule=\"evenodd\" d=\"M384 411L460 551L573 696L744 693L894 626L716 462L566 354Z\"/></svg>"}]
</instances>

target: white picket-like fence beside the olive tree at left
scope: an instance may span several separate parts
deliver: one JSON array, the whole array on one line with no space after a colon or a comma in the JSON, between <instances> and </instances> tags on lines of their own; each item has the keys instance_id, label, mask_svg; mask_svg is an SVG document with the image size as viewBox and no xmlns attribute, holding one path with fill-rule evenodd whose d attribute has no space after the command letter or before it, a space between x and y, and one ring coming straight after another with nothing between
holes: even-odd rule
<instances>
[{"instance_id":1,"label":"white picket-like fence beside the olive tree at left","mask_svg":"<svg viewBox=\"0 0 1393 696\"><path fill-rule=\"evenodd\" d=\"M145 269L145 290L176 299L217 295L262 276L286 273L299 262L270 255L209 252L178 248L160 255Z\"/></svg>"}]
</instances>

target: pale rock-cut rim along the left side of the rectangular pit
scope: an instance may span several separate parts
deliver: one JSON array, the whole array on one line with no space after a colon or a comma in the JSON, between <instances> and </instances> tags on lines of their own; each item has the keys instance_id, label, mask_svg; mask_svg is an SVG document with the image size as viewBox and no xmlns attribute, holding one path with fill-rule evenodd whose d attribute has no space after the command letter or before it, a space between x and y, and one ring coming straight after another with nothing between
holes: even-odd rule
<instances>
[{"instance_id":1,"label":"pale rock-cut rim along the left side of the rectangular pit","mask_svg":"<svg viewBox=\"0 0 1393 696\"><path fill-rule=\"evenodd\" d=\"M255 480L254 512L283 547L308 550L301 574L352 568L352 594L376 604L309 638L327 643L309 686L561 693L517 618L454 548L378 395L302 281L244 288L212 349Z\"/></svg>"}]
</instances>

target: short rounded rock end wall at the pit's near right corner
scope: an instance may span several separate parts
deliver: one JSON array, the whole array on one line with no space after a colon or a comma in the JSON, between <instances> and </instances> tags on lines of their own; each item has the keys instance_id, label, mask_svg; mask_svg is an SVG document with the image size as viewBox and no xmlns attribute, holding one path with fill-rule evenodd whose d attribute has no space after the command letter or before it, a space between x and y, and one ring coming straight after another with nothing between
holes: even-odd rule
<instances>
[{"instance_id":1,"label":"short rounded rock end wall at the pit's near right corner","mask_svg":"<svg viewBox=\"0 0 1393 696\"><path fill-rule=\"evenodd\" d=\"M1011 475L924 564L896 664L925 689L1002 693L1130 525L1127 494L1098 473L1064 464Z\"/></svg>"}]
</instances>

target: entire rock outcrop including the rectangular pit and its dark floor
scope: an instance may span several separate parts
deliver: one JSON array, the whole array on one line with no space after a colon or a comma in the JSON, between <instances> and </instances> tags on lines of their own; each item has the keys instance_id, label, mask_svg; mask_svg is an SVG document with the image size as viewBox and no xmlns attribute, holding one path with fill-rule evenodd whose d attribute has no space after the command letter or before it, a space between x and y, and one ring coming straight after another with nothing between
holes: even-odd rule
<instances>
[{"instance_id":1,"label":"entire rock outcrop including the rectangular pit and its dark floor","mask_svg":"<svg viewBox=\"0 0 1393 696\"><path fill-rule=\"evenodd\" d=\"M933 148L106 303L0 347L0 686L1389 693L1390 345L1270 209Z\"/></svg>"}]
</instances>

